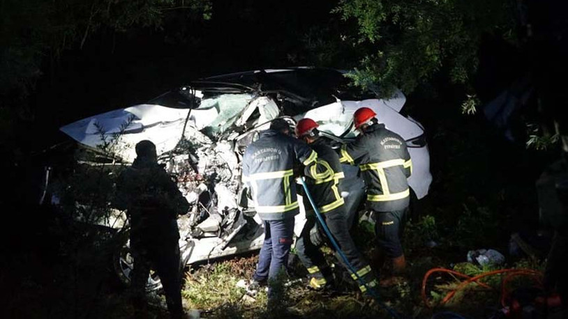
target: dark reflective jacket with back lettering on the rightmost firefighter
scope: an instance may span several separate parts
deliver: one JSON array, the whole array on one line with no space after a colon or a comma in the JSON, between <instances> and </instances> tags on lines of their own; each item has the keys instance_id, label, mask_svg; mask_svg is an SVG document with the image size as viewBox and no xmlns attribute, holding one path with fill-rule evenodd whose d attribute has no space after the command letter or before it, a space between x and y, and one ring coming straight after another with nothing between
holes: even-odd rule
<instances>
[{"instance_id":1,"label":"dark reflective jacket with back lettering on the rightmost firefighter","mask_svg":"<svg viewBox=\"0 0 568 319\"><path fill-rule=\"evenodd\" d=\"M412 161L398 134L383 124L371 125L354 143L341 147L340 161L359 165L367 187L368 208L389 212L408 207L407 178L412 174Z\"/></svg>"}]
</instances>

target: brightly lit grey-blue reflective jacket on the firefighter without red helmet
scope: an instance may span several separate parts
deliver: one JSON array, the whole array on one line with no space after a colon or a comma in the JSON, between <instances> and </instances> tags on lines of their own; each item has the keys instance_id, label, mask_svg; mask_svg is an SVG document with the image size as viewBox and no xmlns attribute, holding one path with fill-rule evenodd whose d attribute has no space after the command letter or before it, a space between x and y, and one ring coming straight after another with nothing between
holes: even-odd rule
<instances>
[{"instance_id":1,"label":"brightly lit grey-blue reflective jacket on the firefighter without red helmet","mask_svg":"<svg viewBox=\"0 0 568 319\"><path fill-rule=\"evenodd\" d=\"M316 160L317 153L304 141L275 130L260 133L243 157L243 181L251 187L260 218L281 220L299 213L294 167L303 164L310 176Z\"/></svg>"}]
</instances>

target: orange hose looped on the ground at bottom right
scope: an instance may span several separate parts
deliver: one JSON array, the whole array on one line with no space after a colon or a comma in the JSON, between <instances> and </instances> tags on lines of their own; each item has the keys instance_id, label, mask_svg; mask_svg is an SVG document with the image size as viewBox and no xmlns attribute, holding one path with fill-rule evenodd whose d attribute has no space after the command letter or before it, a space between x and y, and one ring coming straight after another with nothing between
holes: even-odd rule
<instances>
[{"instance_id":1,"label":"orange hose looped on the ground at bottom right","mask_svg":"<svg viewBox=\"0 0 568 319\"><path fill-rule=\"evenodd\" d=\"M537 272L536 270L528 270L528 269L504 269L504 270L494 270L492 272L485 272L484 274L479 274L475 277L470 277L466 274L462 274L461 272L455 272L454 270L449 270L446 268L433 268L431 270L428 270L428 272L426 272L426 274L424 275L424 279L422 280L422 291L421 291L421 295L422 295L422 299L424 301L424 304L426 305L426 307L428 308L432 308L432 306L428 303L428 298L426 297L426 283L428 281L428 277L431 276L431 274L433 274L434 272L447 272L449 274L455 274L458 277L462 277L462 278L466 278L465 281L462 281L459 286L454 289L451 290L449 293L447 293L447 295L445 295L444 299L442 299L442 302L440 302L440 304L438 304L438 306L445 304L446 302L449 301L449 299L451 299L452 297L454 297L454 295L456 295L456 293L459 290L462 290L463 288L465 288L465 286L468 286L469 283L477 283L479 286L482 286L484 288L488 288L488 289L493 289L491 286L488 286L486 283L481 283L479 282L479 279L484 278L484 277L488 277L488 276L492 276L494 274L502 274L502 273L510 273L508 277L514 277L514 276L518 276L518 275L528 275L528 276L532 276L532 277L540 277L541 273ZM505 281L504 281L505 283ZM502 288L502 294L505 294L505 288ZM502 297L502 302L503 302L503 297Z\"/></svg>"}]
</instances>

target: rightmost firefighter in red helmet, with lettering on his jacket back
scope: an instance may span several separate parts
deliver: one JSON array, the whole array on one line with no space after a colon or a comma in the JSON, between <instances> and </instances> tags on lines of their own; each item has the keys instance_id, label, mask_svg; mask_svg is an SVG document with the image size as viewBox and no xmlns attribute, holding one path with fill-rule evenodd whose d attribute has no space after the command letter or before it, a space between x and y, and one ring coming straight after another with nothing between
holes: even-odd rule
<instances>
[{"instance_id":1,"label":"rightmost firefighter in red helmet, with lettering on his jacket back","mask_svg":"<svg viewBox=\"0 0 568 319\"><path fill-rule=\"evenodd\" d=\"M354 143L341 147L340 161L359 165L380 252L390 258L392 272L398 275L406 267L400 238L410 203L407 178L412 161L405 140L378 123L376 115L368 107L355 111L353 121L360 134Z\"/></svg>"}]
</instances>

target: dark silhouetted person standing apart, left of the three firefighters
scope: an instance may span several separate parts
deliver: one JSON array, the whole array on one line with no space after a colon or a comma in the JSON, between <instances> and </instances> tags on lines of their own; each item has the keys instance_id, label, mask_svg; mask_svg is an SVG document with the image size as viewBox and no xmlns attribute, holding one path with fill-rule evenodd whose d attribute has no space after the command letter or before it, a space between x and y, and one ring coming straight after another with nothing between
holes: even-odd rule
<instances>
[{"instance_id":1,"label":"dark silhouetted person standing apart, left of the three firefighters","mask_svg":"<svg viewBox=\"0 0 568 319\"><path fill-rule=\"evenodd\" d=\"M126 210L130 221L130 249L134 258L131 287L136 316L145 316L145 288L150 267L161 279L167 309L181 318L181 265L177 215L189 204L176 183L158 164L151 141L136 144L136 159L119 176L116 206Z\"/></svg>"}]
</instances>

